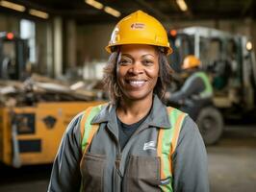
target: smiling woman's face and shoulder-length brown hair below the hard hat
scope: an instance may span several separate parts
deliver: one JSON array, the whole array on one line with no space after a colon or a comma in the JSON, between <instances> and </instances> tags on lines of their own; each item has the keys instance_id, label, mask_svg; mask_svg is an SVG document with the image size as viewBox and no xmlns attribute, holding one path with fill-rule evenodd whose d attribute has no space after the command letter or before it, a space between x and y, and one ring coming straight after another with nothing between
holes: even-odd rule
<instances>
[{"instance_id":1,"label":"smiling woman's face and shoulder-length brown hair below the hard hat","mask_svg":"<svg viewBox=\"0 0 256 192\"><path fill-rule=\"evenodd\" d=\"M154 93L164 102L171 72L166 55L160 48L127 44L112 53L105 67L104 82L110 90L113 104L119 103L120 108L125 108L125 104L140 101L141 106L147 108L138 117L131 116L129 123L135 123L151 108Z\"/></svg>"}]
</instances>

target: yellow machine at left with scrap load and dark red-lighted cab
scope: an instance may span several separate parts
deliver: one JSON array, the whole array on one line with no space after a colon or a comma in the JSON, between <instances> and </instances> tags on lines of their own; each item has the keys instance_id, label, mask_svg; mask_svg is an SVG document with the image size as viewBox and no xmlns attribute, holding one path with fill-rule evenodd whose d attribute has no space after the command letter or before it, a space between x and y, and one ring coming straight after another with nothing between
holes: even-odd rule
<instances>
[{"instance_id":1,"label":"yellow machine at left with scrap load and dark red-lighted cab","mask_svg":"<svg viewBox=\"0 0 256 192\"><path fill-rule=\"evenodd\" d=\"M13 167L53 162L71 119L102 103L82 82L26 79L28 51L25 39L0 34L0 162Z\"/></svg>"}]
</instances>

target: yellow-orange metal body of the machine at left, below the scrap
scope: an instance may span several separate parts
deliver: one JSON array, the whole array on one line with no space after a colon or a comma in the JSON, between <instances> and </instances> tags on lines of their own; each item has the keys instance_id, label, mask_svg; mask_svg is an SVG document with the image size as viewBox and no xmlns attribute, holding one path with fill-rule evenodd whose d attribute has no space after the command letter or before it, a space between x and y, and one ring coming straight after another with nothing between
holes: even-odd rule
<instances>
[{"instance_id":1,"label":"yellow-orange metal body of the machine at left, below the scrap","mask_svg":"<svg viewBox=\"0 0 256 192\"><path fill-rule=\"evenodd\" d=\"M55 102L0 108L0 161L13 167L53 162L71 119L100 103Z\"/></svg>"}]
</instances>

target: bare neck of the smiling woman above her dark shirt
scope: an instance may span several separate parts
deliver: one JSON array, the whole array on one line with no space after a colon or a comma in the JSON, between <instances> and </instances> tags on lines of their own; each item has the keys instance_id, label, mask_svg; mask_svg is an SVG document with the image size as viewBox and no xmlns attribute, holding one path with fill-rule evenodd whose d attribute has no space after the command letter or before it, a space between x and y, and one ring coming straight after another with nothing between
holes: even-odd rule
<instances>
[{"instance_id":1,"label":"bare neck of the smiling woman above her dark shirt","mask_svg":"<svg viewBox=\"0 0 256 192\"><path fill-rule=\"evenodd\" d=\"M153 97L137 101L122 99L116 109L116 114L121 122L133 124L140 121L149 112L152 103Z\"/></svg>"}]
</instances>

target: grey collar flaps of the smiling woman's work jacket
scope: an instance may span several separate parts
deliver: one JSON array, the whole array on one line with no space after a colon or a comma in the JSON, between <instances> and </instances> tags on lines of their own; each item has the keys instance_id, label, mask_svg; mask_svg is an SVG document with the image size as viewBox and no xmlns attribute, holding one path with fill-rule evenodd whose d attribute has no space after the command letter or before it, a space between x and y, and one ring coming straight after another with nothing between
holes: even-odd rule
<instances>
[{"instance_id":1,"label":"grey collar flaps of the smiling woman's work jacket","mask_svg":"<svg viewBox=\"0 0 256 192\"><path fill-rule=\"evenodd\" d=\"M109 104L103 107L100 113L92 119L91 124L108 122L108 124L115 125L115 111L115 105ZM157 95L154 95L153 106L148 115L147 122L150 127L158 127L164 129L171 128L171 122L169 122L166 106L160 101Z\"/></svg>"}]
</instances>

